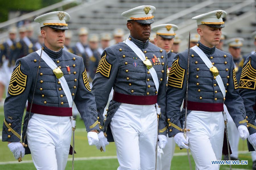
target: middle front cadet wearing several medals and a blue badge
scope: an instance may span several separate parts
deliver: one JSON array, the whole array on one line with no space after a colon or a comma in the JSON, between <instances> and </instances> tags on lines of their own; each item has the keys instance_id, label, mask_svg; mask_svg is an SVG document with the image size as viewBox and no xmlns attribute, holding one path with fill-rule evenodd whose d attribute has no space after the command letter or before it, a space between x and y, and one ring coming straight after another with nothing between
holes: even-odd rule
<instances>
[{"instance_id":1,"label":"middle front cadet wearing several medals and a blue badge","mask_svg":"<svg viewBox=\"0 0 256 170\"><path fill-rule=\"evenodd\" d=\"M167 54L148 41L154 11L155 7L145 5L122 13L131 35L105 49L92 82L100 128L104 125L108 142L115 142L118 170L155 169L157 136L160 148L167 141ZM113 100L104 121L112 87Z\"/></svg>"}]
</instances>

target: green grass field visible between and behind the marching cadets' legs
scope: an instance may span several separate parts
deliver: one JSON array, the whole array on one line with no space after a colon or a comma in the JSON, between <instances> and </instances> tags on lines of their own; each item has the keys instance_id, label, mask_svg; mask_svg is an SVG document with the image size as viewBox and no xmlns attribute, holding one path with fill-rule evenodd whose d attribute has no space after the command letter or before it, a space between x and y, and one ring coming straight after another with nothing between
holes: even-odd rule
<instances>
[{"instance_id":1,"label":"green grass field visible between and behind the marching cadets' legs","mask_svg":"<svg viewBox=\"0 0 256 170\"><path fill-rule=\"evenodd\" d=\"M3 122L3 107L0 107L0 122ZM2 131L2 125L0 126ZM116 150L115 144L112 142L107 146L106 152L100 152L96 149L95 146L89 146L87 141L87 133L85 131L85 127L83 121L77 120L77 130L75 131L75 150L77 154L75 154L75 169L76 170L115 170L118 167L118 161L116 159ZM240 141L239 144L240 151L247 150L246 141ZM184 155L186 150L180 150L176 145L175 155L172 159L171 169L173 170L189 170L189 163L187 155ZM193 161L192 156L192 169L195 169L195 163ZM72 157L69 156L71 159ZM72 168L72 162L68 161L66 169ZM76 160L77 159L77 160ZM232 168L238 169L251 169L252 161L251 154L249 152L245 152L243 154L239 154L240 160L248 160L248 165L232 165ZM14 159L13 154L7 147L7 142L1 142L0 145L0 170L34 170L34 164L31 162L31 156L26 155L22 158L22 162L18 163L17 160ZM27 163L28 162L28 163ZM221 165L221 170L229 169L229 166Z\"/></svg>"}]
</instances>

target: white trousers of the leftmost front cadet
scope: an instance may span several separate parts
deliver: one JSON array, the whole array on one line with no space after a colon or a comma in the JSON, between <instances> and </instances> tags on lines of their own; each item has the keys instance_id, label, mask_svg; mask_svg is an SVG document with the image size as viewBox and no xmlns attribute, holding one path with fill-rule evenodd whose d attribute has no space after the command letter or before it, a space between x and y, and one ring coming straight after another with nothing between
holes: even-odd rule
<instances>
[{"instance_id":1,"label":"white trousers of the leftmost front cadet","mask_svg":"<svg viewBox=\"0 0 256 170\"><path fill-rule=\"evenodd\" d=\"M70 117L34 114L28 122L27 140L38 170L64 170L69 156Z\"/></svg>"}]
</instances>

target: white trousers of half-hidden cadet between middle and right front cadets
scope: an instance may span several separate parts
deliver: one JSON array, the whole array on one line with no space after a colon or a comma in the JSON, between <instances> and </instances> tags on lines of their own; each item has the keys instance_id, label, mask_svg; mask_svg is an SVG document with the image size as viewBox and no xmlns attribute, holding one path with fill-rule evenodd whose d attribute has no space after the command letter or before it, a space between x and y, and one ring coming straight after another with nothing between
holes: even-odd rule
<instances>
[{"instance_id":1,"label":"white trousers of half-hidden cadet between middle and right front cadets","mask_svg":"<svg viewBox=\"0 0 256 170\"><path fill-rule=\"evenodd\" d=\"M175 141L174 138L169 138L167 134L168 143L164 149L157 147L157 161L156 169L157 170L168 170L171 168L171 161L175 150Z\"/></svg>"}]
</instances>

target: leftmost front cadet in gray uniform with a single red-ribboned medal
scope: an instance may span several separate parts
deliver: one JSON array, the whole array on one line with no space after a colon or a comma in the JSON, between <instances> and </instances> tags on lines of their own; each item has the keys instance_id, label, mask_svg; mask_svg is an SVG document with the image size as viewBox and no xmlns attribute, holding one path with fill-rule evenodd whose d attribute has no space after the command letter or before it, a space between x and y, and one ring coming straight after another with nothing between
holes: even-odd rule
<instances>
[{"instance_id":1,"label":"leftmost front cadet in gray uniform with a single red-ribboned medal","mask_svg":"<svg viewBox=\"0 0 256 170\"><path fill-rule=\"evenodd\" d=\"M5 99L2 140L9 143L8 147L16 159L31 152L36 169L65 169L72 127L75 127L73 101L84 120L89 145L98 142L97 132L100 129L96 103L83 60L61 48L69 18L68 13L56 11L35 19L40 23L45 44L42 49L16 62ZM21 143L22 115L27 100L22 134L25 142ZM30 105L31 115L28 118ZM29 148L24 149L24 145Z\"/></svg>"}]
</instances>

